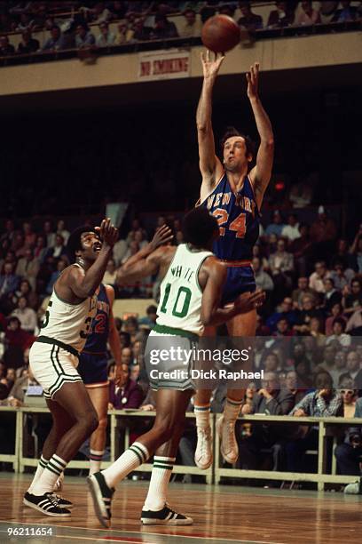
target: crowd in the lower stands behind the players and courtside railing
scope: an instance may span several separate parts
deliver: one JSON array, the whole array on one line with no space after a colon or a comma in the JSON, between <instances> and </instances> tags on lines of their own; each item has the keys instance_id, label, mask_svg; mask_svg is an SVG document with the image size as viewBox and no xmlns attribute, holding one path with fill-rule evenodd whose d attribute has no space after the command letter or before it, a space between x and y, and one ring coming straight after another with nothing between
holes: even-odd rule
<instances>
[{"instance_id":1,"label":"crowd in the lower stands behind the players and courtside railing","mask_svg":"<svg viewBox=\"0 0 362 544\"><path fill-rule=\"evenodd\" d=\"M180 220L159 216L148 232L138 219L133 220L128 235L114 245L104 281L114 284L118 297L153 296L157 300L157 277L148 278L145 283L116 285L116 270L148 244L154 228L165 222L173 229L174 243L181 244ZM299 221L298 212L284 218L275 211L271 222L261 228L253 267L257 286L267 293L258 316L259 343L255 350L256 368L264 370L264 380L250 384L243 413L353 417L355 406L359 406L362 226L350 241L338 237L338 232L339 226L323 206L310 226ZM33 383L28 350L39 332L42 302L67 267L68 236L63 220L56 227L51 220L44 220L37 230L31 221L21 225L12 220L4 222L0 236L3 404L20 405L24 401L24 384ZM130 306L129 316L115 319L122 342L123 372L114 381L114 364L110 364L110 408L153 408L152 392L147 391L140 370L139 353L155 323L156 310L151 305L146 316L133 316ZM225 384L219 384L214 392L215 410L221 410L225 395ZM136 435L139 426L132 430ZM307 432L295 426L286 431L240 424L238 436L239 463L244 468L264 466L266 455L274 469L303 470L303 452L318 445L314 429ZM194 440L194 428L189 426L180 446L182 460L191 462ZM362 453L361 444L358 428L339 436L336 456L342 474L359 474L357 452Z\"/></svg>"}]
</instances>

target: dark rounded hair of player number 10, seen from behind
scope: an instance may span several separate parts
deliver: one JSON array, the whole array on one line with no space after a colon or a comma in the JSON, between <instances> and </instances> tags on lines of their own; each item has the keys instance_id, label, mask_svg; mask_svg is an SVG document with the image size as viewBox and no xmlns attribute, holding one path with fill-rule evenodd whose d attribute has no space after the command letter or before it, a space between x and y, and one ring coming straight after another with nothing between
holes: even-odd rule
<instances>
[{"instance_id":1,"label":"dark rounded hair of player number 10, seen from behind","mask_svg":"<svg viewBox=\"0 0 362 544\"><path fill-rule=\"evenodd\" d=\"M218 231L216 218L201 206L186 213L182 222L185 242L199 248L208 245Z\"/></svg>"}]
</instances>

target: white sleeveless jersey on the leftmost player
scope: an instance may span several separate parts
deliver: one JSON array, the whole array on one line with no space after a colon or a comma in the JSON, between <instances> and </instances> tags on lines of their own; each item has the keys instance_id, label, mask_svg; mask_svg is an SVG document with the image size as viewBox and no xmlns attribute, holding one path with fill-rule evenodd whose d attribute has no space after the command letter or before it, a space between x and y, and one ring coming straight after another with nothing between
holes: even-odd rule
<instances>
[{"instance_id":1,"label":"white sleeveless jersey on the leftmost player","mask_svg":"<svg viewBox=\"0 0 362 544\"><path fill-rule=\"evenodd\" d=\"M59 340L81 352L87 340L91 320L95 316L96 310L96 295L88 297L79 304L69 304L59 299L55 289L53 289L40 328L40 336Z\"/></svg>"}]
</instances>

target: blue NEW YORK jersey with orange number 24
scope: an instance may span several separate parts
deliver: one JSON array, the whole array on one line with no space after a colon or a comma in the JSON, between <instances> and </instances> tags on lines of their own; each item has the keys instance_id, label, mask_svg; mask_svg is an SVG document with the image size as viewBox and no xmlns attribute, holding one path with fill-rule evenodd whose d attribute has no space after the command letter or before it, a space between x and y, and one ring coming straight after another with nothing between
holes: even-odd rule
<instances>
[{"instance_id":1,"label":"blue NEW YORK jersey with orange number 24","mask_svg":"<svg viewBox=\"0 0 362 544\"><path fill-rule=\"evenodd\" d=\"M213 192L201 203L216 217L220 236L213 252L218 259L251 260L259 236L260 213L248 176L240 191L234 193L226 172Z\"/></svg>"}]
</instances>

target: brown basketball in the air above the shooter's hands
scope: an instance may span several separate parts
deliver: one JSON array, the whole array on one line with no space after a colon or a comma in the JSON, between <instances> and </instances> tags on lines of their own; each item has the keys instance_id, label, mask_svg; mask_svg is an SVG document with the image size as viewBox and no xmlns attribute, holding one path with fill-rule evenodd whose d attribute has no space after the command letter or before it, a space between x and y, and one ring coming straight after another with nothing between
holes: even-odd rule
<instances>
[{"instance_id":1,"label":"brown basketball in the air above the shooter's hands","mask_svg":"<svg viewBox=\"0 0 362 544\"><path fill-rule=\"evenodd\" d=\"M201 39L210 51L227 52L239 44L240 28L228 15L215 15L202 27Z\"/></svg>"}]
</instances>

